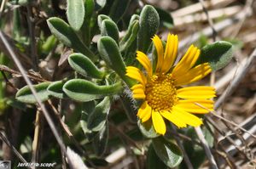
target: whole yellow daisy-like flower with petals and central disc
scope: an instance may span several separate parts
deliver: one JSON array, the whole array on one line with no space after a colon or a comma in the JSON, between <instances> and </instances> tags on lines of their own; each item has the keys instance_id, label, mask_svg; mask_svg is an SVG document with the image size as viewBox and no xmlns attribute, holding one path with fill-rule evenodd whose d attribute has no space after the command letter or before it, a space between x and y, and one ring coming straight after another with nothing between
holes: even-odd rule
<instances>
[{"instance_id":1,"label":"whole yellow daisy-like flower with petals and central disc","mask_svg":"<svg viewBox=\"0 0 256 169\"><path fill-rule=\"evenodd\" d=\"M181 87L201 80L211 72L208 63L195 65L200 49L189 47L183 58L174 65L177 58L177 35L168 35L164 51L160 37L152 38L157 51L155 69L146 54L137 51L137 60L145 71L134 66L126 67L126 76L137 80L131 87L134 99L143 99L137 112L142 122L152 119L155 132L166 133L164 119L172 121L177 127L198 127L202 124L194 114L206 114L213 110L215 89L213 87Z\"/></svg>"}]
</instances>

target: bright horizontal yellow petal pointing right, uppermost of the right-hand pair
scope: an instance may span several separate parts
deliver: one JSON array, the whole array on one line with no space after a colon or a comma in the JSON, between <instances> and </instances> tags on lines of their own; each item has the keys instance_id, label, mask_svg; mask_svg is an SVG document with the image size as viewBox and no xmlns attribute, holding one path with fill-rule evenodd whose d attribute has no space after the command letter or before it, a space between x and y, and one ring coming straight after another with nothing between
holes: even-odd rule
<instances>
[{"instance_id":1,"label":"bright horizontal yellow petal pointing right, uppermost of the right-hand pair","mask_svg":"<svg viewBox=\"0 0 256 169\"><path fill-rule=\"evenodd\" d=\"M213 87L183 87L177 89L177 97L181 99L211 99L216 97Z\"/></svg>"}]
</instances>

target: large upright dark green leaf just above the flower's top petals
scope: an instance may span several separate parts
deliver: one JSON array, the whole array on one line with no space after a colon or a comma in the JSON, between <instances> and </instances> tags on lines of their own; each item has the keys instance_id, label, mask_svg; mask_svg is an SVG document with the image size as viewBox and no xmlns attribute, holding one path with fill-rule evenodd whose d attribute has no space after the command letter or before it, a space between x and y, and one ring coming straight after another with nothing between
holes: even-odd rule
<instances>
[{"instance_id":1,"label":"large upright dark green leaf just above the flower's top petals","mask_svg":"<svg viewBox=\"0 0 256 169\"><path fill-rule=\"evenodd\" d=\"M143 8L140 14L139 25L140 29L137 37L138 50L146 53L151 43L151 38L160 25L159 14L157 14L154 7L146 5Z\"/></svg>"}]
</instances>

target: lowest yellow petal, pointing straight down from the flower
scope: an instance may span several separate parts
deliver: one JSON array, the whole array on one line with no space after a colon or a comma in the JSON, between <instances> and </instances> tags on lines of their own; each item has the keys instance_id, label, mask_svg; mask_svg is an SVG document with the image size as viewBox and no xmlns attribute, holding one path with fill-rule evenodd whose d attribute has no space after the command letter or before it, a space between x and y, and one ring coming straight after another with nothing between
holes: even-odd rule
<instances>
[{"instance_id":1,"label":"lowest yellow petal, pointing straight down from the flower","mask_svg":"<svg viewBox=\"0 0 256 169\"><path fill-rule=\"evenodd\" d=\"M166 123L158 111L152 110L152 121L155 132L164 135L166 133Z\"/></svg>"}]
</instances>

